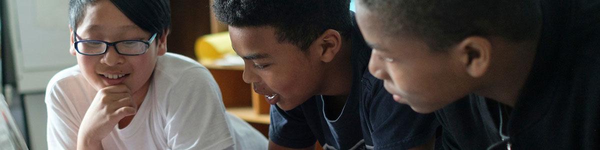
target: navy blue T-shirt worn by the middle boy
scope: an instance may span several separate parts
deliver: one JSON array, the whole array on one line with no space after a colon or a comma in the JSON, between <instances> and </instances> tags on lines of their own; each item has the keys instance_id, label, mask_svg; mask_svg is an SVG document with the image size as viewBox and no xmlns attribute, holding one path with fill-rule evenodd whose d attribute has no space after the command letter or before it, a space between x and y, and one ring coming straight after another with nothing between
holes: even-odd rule
<instances>
[{"instance_id":1,"label":"navy blue T-shirt worn by the middle boy","mask_svg":"<svg viewBox=\"0 0 600 150\"><path fill-rule=\"evenodd\" d=\"M371 49L358 26L352 32L352 89L337 118L328 118L321 95L295 109L271 106L269 139L288 148L306 148L319 140L323 149L408 149L436 134L433 113L420 114L396 103L367 69Z\"/></svg>"}]
</instances>

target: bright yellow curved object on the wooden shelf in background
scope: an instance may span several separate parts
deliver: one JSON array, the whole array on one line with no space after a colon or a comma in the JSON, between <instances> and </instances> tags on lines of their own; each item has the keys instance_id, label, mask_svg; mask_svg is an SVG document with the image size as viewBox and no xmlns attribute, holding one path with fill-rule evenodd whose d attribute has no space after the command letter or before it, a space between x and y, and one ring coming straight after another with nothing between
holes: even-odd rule
<instances>
[{"instance_id":1,"label":"bright yellow curved object on the wooden shelf in background","mask_svg":"<svg viewBox=\"0 0 600 150\"><path fill-rule=\"evenodd\" d=\"M211 64L227 55L236 55L231 46L229 32L204 35L196 40L196 58L202 64Z\"/></svg>"}]
</instances>

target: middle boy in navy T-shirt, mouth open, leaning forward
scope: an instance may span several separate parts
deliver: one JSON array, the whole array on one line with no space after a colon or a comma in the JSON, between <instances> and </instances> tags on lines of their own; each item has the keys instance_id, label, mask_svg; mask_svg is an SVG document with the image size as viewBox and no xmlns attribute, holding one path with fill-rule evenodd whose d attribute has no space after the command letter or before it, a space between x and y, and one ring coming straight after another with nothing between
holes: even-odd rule
<instances>
[{"instance_id":1,"label":"middle boy in navy T-shirt, mouth open, leaning forward","mask_svg":"<svg viewBox=\"0 0 600 150\"><path fill-rule=\"evenodd\" d=\"M244 58L244 81L272 104L269 148L431 149L433 114L394 103L367 70L349 1L215 1Z\"/></svg>"}]
</instances>

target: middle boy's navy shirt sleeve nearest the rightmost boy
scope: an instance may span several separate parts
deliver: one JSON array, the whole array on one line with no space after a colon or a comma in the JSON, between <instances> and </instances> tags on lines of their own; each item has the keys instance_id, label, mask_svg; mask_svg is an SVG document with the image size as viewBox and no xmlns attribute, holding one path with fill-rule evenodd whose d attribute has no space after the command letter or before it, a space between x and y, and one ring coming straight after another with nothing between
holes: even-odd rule
<instances>
[{"instance_id":1,"label":"middle boy's navy shirt sleeve nearest the rightmost boy","mask_svg":"<svg viewBox=\"0 0 600 150\"><path fill-rule=\"evenodd\" d=\"M395 102L380 80L374 85L373 95L365 95L366 126L374 149L409 149L436 136L439 122L434 113L416 113L410 106Z\"/></svg>"}]
</instances>

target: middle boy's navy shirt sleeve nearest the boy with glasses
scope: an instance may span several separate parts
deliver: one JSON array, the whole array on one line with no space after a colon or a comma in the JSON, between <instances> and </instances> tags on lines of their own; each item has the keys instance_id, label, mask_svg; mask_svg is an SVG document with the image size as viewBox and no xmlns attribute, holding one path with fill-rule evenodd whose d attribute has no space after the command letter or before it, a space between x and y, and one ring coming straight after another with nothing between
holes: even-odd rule
<instances>
[{"instance_id":1,"label":"middle boy's navy shirt sleeve nearest the boy with glasses","mask_svg":"<svg viewBox=\"0 0 600 150\"><path fill-rule=\"evenodd\" d=\"M271 106L269 140L287 148L307 148L314 145L316 137L307 124L302 106L284 111L277 105Z\"/></svg>"}]
</instances>

